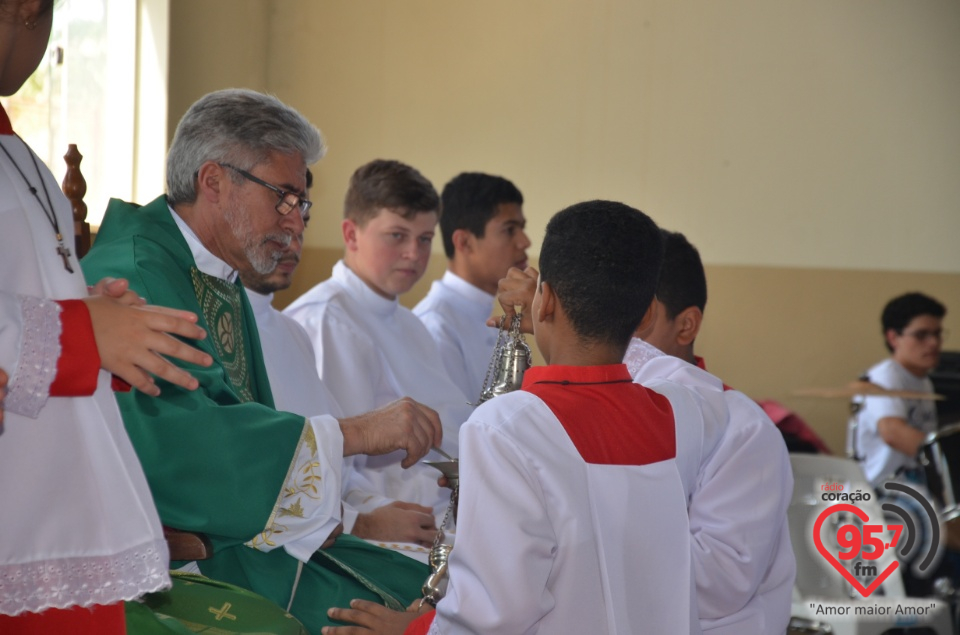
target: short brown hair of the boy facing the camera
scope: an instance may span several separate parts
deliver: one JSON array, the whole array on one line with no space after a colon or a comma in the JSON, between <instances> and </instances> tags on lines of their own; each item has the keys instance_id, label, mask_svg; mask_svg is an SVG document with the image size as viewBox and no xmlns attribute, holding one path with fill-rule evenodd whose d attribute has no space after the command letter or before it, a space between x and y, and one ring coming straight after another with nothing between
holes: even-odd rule
<instances>
[{"instance_id":1,"label":"short brown hair of the boy facing the camera","mask_svg":"<svg viewBox=\"0 0 960 635\"><path fill-rule=\"evenodd\" d=\"M415 168L399 161L376 159L357 168L350 177L343 217L363 227L384 208L411 219L426 212L439 213L440 197Z\"/></svg>"}]
</instances>

